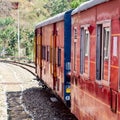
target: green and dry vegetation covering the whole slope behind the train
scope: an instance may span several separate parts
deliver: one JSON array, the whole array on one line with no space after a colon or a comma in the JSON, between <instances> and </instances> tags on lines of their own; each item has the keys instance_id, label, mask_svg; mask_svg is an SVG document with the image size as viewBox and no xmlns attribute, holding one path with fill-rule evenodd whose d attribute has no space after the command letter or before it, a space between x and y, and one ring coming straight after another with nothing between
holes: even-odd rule
<instances>
[{"instance_id":1,"label":"green and dry vegetation covering the whole slope behind the train","mask_svg":"<svg viewBox=\"0 0 120 120\"><path fill-rule=\"evenodd\" d=\"M0 0L0 55L18 56L18 9L19 2L21 56L32 58L34 26L38 22L77 7L85 0Z\"/></svg>"}]
</instances>

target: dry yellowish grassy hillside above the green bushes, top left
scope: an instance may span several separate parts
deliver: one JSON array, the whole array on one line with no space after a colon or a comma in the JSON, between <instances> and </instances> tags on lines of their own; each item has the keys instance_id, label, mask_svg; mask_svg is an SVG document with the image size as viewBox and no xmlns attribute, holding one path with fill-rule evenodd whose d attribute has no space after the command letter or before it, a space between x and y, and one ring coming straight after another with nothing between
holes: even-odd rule
<instances>
[{"instance_id":1,"label":"dry yellowish grassy hillside above the green bushes, top left","mask_svg":"<svg viewBox=\"0 0 120 120\"><path fill-rule=\"evenodd\" d=\"M17 23L18 12L12 9L12 2L16 0L0 1L0 18L12 17ZM24 28L33 28L37 22L49 15L44 8L47 0L17 0L17 2L19 2L20 26Z\"/></svg>"}]
</instances>

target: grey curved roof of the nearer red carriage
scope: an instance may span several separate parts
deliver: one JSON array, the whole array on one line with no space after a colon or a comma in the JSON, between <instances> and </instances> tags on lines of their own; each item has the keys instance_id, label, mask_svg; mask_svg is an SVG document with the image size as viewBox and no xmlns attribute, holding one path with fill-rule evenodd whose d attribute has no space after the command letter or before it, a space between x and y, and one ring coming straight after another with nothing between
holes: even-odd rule
<instances>
[{"instance_id":1,"label":"grey curved roof of the nearer red carriage","mask_svg":"<svg viewBox=\"0 0 120 120\"><path fill-rule=\"evenodd\" d=\"M87 10L91 7L94 7L96 5L99 5L99 4L107 2L107 1L109 1L109 0L90 0L90 1L84 2L83 4L81 4L80 6L78 6L76 9L74 9L72 11L72 15L74 15L78 12L82 12L84 10Z\"/></svg>"}]
</instances>

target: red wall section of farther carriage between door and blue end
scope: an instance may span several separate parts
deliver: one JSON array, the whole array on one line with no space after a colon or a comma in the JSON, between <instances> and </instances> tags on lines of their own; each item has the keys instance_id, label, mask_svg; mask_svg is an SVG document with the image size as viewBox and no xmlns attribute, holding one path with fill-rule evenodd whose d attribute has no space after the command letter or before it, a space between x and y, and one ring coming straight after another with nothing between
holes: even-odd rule
<instances>
[{"instance_id":1,"label":"red wall section of farther carriage between door and blue end","mask_svg":"<svg viewBox=\"0 0 120 120\"><path fill-rule=\"evenodd\" d=\"M56 40L56 67L57 79L55 90L57 94L63 98L63 84L64 84L64 21L56 24L57 40Z\"/></svg>"}]
</instances>

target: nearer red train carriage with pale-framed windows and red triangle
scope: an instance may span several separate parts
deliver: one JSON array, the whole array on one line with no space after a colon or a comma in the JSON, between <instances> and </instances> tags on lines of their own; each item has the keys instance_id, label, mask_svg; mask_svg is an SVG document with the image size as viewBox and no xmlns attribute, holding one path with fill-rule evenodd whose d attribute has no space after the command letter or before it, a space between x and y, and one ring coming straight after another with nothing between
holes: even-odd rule
<instances>
[{"instance_id":1,"label":"nearer red train carriage with pale-framed windows and red triangle","mask_svg":"<svg viewBox=\"0 0 120 120\"><path fill-rule=\"evenodd\" d=\"M71 111L79 120L120 120L120 0L72 12Z\"/></svg>"}]
</instances>

